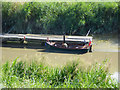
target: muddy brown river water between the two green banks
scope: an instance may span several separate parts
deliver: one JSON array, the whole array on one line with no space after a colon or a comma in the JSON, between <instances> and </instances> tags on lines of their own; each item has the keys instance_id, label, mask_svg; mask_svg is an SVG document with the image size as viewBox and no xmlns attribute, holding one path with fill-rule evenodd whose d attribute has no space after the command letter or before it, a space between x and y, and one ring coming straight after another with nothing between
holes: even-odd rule
<instances>
[{"instance_id":1,"label":"muddy brown river water between the two green banks","mask_svg":"<svg viewBox=\"0 0 120 90\"><path fill-rule=\"evenodd\" d=\"M96 62L102 63L108 59L108 68L111 73L118 72L118 46L117 39L93 39L93 52L85 54L76 54L69 52L48 51L39 44L20 44L7 42L2 44L1 59L2 63L12 62L15 58L18 60L31 62L32 60L42 61L52 67L61 67L69 61L79 61L83 67L88 67ZM119 64L120 65L120 64ZM120 69L119 69L120 70Z\"/></svg>"}]
</instances>

